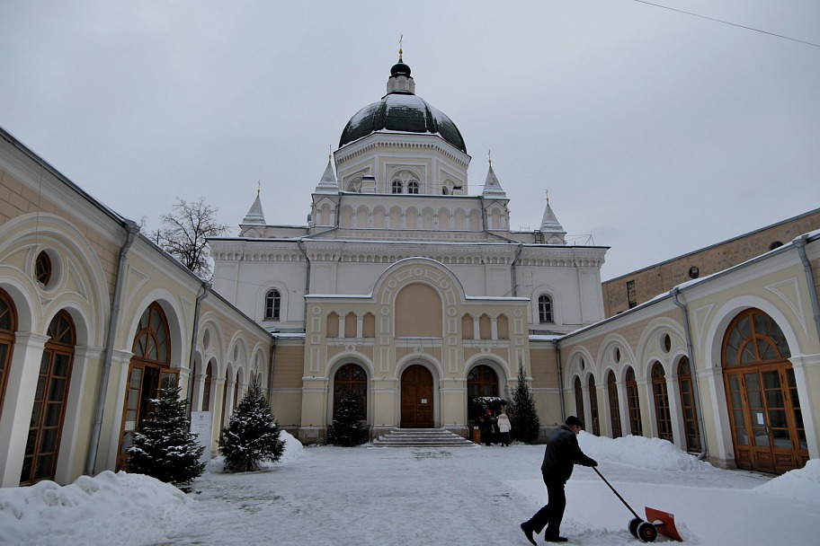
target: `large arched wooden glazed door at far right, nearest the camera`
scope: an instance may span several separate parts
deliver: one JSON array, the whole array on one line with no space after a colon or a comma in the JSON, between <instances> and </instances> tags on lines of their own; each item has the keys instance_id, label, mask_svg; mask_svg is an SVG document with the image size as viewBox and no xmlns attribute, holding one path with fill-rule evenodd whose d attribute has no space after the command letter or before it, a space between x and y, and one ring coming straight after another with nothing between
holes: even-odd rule
<instances>
[{"instance_id":1,"label":"large arched wooden glazed door at far right, nearest the camera","mask_svg":"<svg viewBox=\"0 0 820 546\"><path fill-rule=\"evenodd\" d=\"M726 330L721 360L738 468L782 474L808 461L790 356L780 326L760 309Z\"/></svg>"}]
</instances>

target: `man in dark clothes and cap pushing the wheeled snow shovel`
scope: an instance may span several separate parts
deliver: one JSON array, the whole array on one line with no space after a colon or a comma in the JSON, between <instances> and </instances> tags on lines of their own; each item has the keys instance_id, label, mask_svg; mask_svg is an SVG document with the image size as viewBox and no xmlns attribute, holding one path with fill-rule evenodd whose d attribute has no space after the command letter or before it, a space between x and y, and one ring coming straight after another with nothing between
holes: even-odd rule
<instances>
[{"instance_id":1,"label":"man in dark clothes and cap pushing the wheeled snow shovel","mask_svg":"<svg viewBox=\"0 0 820 546\"><path fill-rule=\"evenodd\" d=\"M578 445L578 433L584 429L584 423L574 415L566 418L560 427L557 427L547 440L544 450L544 462L541 463L541 475L544 485L547 486L547 506L542 507L530 519L521 524L521 531L527 540L535 544L533 534L541 533L544 527L544 540L547 542L566 542L561 536L561 520L564 519L566 508L566 480L572 475L573 465L598 466L594 459L587 457Z\"/></svg>"}]
</instances>

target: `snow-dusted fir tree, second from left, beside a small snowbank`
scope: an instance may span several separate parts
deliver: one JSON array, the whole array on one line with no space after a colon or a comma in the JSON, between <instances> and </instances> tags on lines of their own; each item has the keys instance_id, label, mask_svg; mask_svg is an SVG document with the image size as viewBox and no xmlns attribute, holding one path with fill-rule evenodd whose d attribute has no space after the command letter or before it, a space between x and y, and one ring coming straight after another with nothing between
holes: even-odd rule
<instances>
[{"instance_id":1,"label":"snow-dusted fir tree, second from left, beside a small snowbank","mask_svg":"<svg viewBox=\"0 0 820 546\"><path fill-rule=\"evenodd\" d=\"M255 471L260 462L279 461L285 452L279 433L271 406L254 378L219 435L219 454L225 457L226 469Z\"/></svg>"}]
</instances>

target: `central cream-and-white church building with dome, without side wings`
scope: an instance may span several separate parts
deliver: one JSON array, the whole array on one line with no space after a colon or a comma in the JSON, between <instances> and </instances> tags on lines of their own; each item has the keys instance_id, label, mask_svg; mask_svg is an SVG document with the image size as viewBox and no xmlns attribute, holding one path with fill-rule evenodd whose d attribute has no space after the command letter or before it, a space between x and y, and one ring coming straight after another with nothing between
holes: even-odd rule
<instances>
[{"instance_id":1,"label":"central cream-and-white church building with dome, without side wings","mask_svg":"<svg viewBox=\"0 0 820 546\"><path fill-rule=\"evenodd\" d=\"M269 225L257 196L238 237L209 241L214 289L272 332L273 409L303 442L325 441L344 390L370 437L468 436L473 396L509 397L533 354L555 369L531 334L603 318L606 248L567 245L548 202L539 230L512 231L492 163L470 196L469 162L399 58L386 94L343 128L307 225ZM557 376L539 392L557 415Z\"/></svg>"}]
</instances>

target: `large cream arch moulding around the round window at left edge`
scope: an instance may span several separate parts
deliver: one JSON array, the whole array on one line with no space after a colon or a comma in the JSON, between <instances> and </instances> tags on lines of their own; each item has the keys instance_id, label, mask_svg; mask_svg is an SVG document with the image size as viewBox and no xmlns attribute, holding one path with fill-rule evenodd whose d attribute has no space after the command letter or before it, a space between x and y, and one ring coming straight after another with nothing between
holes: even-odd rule
<instances>
[{"instance_id":1,"label":"large cream arch moulding around the round window at left edge","mask_svg":"<svg viewBox=\"0 0 820 546\"><path fill-rule=\"evenodd\" d=\"M34 282L35 262L43 251L58 271L49 286ZM51 317L71 307L76 317L77 312L84 317L86 343L103 345L102 325L110 313L108 282L85 234L66 219L40 212L0 225L0 278L18 306L21 329L46 331Z\"/></svg>"}]
</instances>

